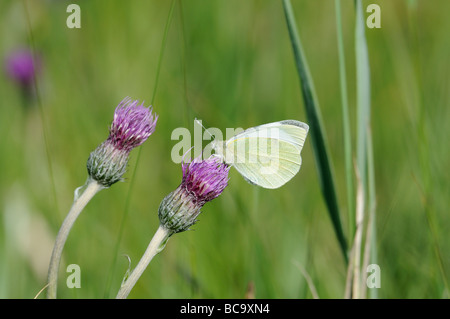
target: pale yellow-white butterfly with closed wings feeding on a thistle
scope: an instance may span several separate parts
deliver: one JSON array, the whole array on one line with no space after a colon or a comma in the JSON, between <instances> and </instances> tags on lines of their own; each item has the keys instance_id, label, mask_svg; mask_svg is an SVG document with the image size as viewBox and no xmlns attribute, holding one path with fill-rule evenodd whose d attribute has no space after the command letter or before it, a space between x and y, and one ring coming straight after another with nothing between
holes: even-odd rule
<instances>
[{"instance_id":1,"label":"pale yellow-white butterfly with closed wings feeding on a thistle","mask_svg":"<svg viewBox=\"0 0 450 319\"><path fill-rule=\"evenodd\" d=\"M285 120L249 128L227 141L212 142L215 155L251 184L279 188L300 170L309 126Z\"/></svg>"}]
</instances>

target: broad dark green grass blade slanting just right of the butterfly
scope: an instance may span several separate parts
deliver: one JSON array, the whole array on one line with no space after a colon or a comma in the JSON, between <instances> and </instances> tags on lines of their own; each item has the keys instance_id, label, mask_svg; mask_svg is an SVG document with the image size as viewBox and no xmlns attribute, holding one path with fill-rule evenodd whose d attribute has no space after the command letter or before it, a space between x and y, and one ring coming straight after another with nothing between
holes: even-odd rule
<instances>
[{"instance_id":1,"label":"broad dark green grass blade slanting just right of the butterfly","mask_svg":"<svg viewBox=\"0 0 450 319\"><path fill-rule=\"evenodd\" d=\"M317 102L314 85L309 68L303 53L300 36L297 31L292 5L289 0L283 0L284 13L289 30L292 48L294 51L295 63L300 77L301 90L306 109L306 116L310 127L310 134L314 156L319 173L319 181L322 189L328 212L336 233L345 262L348 262L347 241L344 236L341 224L341 216L337 200L336 187L331 167L331 159L328 155L327 140L325 130L322 125L319 104Z\"/></svg>"}]
</instances>

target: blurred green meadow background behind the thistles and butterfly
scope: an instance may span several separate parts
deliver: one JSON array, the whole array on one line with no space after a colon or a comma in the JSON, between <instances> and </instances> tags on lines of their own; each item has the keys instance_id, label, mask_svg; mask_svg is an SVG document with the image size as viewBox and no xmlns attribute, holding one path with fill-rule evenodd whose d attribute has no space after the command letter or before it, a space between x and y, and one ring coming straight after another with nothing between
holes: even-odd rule
<instances>
[{"instance_id":1,"label":"blurred green meadow background behind the thistles and butterfly","mask_svg":"<svg viewBox=\"0 0 450 319\"><path fill-rule=\"evenodd\" d=\"M0 0L0 298L33 298L45 286L54 239L87 178L89 153L108 136L124 97L153 101L156 131L132 151L125 181L101 191L76 221L59 298L116 295L125 256L134 267L159 225L159 203L181 181L181 166L171 160L175 128L193 134L196 117L223 132L308 122L281 1L176 0L162 55L172 1L76 1L80 29L66 26L70 3ZM450 2L362 3L364 17L370 3L381 7L381 28L365 29L377 296L448 298ZM335 1L292 0L292 7L350 246ZM341 1L341 9L356 156L354 1ZM28 95L4 70L8 55L23 48L40 63ZM276 190L252 186L231 169L224 193L205 205L192 231L171 237L130 298L312 298L303 269L320 298L343 298L347 266L311 136L302 159L299 174ZM81 268L79 289L65 284L69 264Z\"/></svg>"}]
</instances>

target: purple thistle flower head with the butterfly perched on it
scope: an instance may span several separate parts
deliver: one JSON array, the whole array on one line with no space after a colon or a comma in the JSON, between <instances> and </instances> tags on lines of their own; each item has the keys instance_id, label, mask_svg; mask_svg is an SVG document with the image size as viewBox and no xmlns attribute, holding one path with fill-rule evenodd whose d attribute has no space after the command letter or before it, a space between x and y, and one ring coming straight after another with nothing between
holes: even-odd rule
<instances>
[{"instance_id":1,"label":"purple thistle flower head with the butterfly perched on it","mask_svg":"<svg viewBox=\"0 0 450 319\"><path fill-rule=\"evenodd\" d=\"M172 233L188 230L197 221L203 205L222 194L228 185L230 167L217 157L182 163L183 179L159 206L161 225Z\"/></svg>"}]
</instances>

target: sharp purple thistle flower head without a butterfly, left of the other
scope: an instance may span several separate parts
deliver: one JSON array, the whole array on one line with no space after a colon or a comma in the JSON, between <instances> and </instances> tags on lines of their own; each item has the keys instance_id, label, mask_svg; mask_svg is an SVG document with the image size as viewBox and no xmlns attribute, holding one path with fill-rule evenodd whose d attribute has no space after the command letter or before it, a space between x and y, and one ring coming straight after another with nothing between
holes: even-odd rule
<instances>
[{"instance_id":1,"label":"sharp purple thistle flower head without a butterfly, left of the other","mask_svg":"<svg viewBox=\"0 0 450 319\"><path fill-rule=\"evenodd\" d=\"M109 136L89 156L89 176L105 187L120 181L126 172L131 150L155 131L158 116L151 107L125 98L114 112Z\"/></svg>"}]
</instances>

